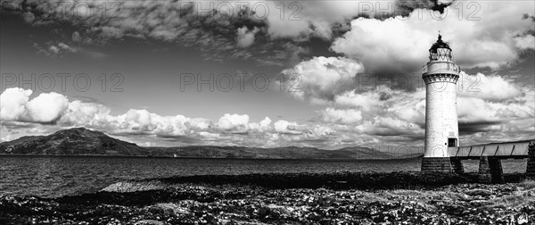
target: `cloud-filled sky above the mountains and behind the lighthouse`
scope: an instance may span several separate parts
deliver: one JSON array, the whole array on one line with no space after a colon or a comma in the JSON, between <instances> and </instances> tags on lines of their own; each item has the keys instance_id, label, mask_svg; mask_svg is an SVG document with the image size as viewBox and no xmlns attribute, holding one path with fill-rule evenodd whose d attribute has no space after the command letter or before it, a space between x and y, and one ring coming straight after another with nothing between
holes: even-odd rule
<instances>
[{"instance_id":1,"label":"cloud-filled sky above the mountains and behind the lighthouse","mask_svg":"<svg viewBox=\"0 0 535 225\"><path fill-rule=\"evenodd\" d=\"M461 67L460 146L535 134L533 1L3 0L0 141L423 146L422 66Z\"/></svg>"}]
</instances>

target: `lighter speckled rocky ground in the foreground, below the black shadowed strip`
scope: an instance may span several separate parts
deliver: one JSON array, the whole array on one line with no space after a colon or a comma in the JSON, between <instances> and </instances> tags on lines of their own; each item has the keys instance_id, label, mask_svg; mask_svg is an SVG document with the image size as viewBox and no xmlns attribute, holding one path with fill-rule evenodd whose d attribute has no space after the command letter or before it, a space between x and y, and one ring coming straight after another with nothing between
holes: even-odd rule
<instances>
[{"instance_id":1,"label":"lighter speckled rocky ground in the foreground, below the black shadowed strip","mask_svg":"<svg viewBox=\"0 0 535 225\"><path fill-rule=\"evenodd\" d=\"M502 204L517 195L514 186L339 190L175 184L55 199L0 196L0 224L530 224L533 205Z\"/></svg>"}]
</instances>

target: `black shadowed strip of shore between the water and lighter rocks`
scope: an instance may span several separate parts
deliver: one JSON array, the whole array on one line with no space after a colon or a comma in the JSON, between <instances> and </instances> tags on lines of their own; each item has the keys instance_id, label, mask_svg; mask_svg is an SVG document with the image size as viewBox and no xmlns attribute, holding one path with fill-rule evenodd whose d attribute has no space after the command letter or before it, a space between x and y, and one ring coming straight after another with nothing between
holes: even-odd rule
<instances>
[{"instance_id":1,"label":"black shadowed strip of shore between the water and lighter rocks","mask_svg":"<svg viewBox=\"0 0 535 225\"><path fill-rule=\"evenodd\" d=\"M526 179L524 173L504 173L504 183L518 183ZM136 181L158 181L163 184L208 184L208 185L250 185L267 188L321 188L333 189L391 189L425 188L446 185L479 183L477 172L443 173L420 171L338 171L323 173L248 173L236 175L194 175L175 176L161 179L139 179Z\"/></svg>"}]
</instances>

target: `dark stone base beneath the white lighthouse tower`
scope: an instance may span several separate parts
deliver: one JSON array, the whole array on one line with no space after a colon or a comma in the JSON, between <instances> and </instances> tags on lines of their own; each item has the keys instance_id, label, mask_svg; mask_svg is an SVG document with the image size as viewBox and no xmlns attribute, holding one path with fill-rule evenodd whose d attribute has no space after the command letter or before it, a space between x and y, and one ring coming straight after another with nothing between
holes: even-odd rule
<instances>
[{"instance_id":1,"label":"dark stone base beneath the white lighthouse tower","mask_svg":"<svg viewBox=\"0 0 535 225\"><path fill-rule=\"evenodd\" d=\"M422 172L457 172L465 171L463 163L449 157L424 157L422 158Z\"/></svg>"}]
</instances>

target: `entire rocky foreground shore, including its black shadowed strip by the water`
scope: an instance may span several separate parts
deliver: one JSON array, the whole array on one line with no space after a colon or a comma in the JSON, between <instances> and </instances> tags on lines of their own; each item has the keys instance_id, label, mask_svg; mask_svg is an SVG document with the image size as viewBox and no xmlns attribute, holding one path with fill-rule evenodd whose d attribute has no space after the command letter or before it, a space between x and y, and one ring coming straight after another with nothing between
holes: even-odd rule
<instances>
[{"instance_id":1,"label":"entire rocky foreground shore, including its black shadowed strip by the water","mask_svg":"<svg viewBox=\"0 0 535 225\"><path fill-rule=\"evenodd\" d=\"M504 184L477 184L474 176L341 172L139 180L81 196L0 196L0 224L533 224L535 181L506 174Z\"/></svg>"}]
</instances>

